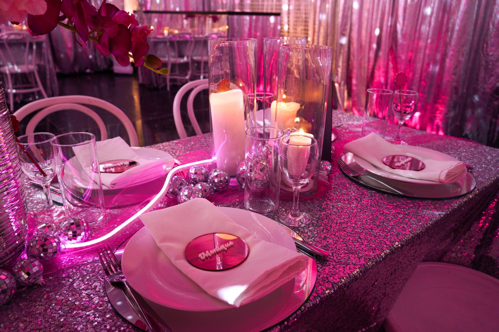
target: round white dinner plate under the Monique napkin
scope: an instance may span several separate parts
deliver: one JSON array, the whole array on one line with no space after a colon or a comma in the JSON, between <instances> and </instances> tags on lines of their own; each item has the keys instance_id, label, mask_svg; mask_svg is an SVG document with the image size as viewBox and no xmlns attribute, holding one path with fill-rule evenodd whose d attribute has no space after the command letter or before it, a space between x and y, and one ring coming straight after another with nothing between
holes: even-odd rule
<instances>
[{"instance_id":1,"label":"round white dinner plate under the Monique napkin","mask_svg":"<svg viewBox=\"0 0 499 332\"><path fill-rule=\"evenodd\" d=\"M219 209L250 230L257 238L296 250L291 236L279 223L246 210L223 207ZM234 308L206 293L177 269L156 245L146 227L130 238L123 252L122 267L132 288L144 298L161 306L200 312ZM290 287L292 290L293 285L294 280L291 280L290 285L286 283L281 287Z\"/></svg>"}]
</instances>

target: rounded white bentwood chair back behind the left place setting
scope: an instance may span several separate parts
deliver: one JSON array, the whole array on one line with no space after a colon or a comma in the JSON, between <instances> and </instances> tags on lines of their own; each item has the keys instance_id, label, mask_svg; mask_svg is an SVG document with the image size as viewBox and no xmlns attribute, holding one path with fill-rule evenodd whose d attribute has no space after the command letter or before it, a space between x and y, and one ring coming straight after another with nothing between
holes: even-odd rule
<instances>
[{"instance_id":1,"label":"rounded white bentwood chair back behind the left place setting","mask_svg":"<svg viewBox=\"0 0 499 332\"><path fill-rule=\"evenodd\" d=\"M21 121L28 114L37 112L28 122L26 126L26 134L33 133L36 125L48 114L56 111L80 111L90 116L98 125L100 131L100 139L105 140L108 137L107 128L100 116L87 106L94 106L105 111L109 111L115 115L125 126L130 146L139 146L137 131L128 116L118 109L116 106L102 99L89 96L61 96L50 97L29 103L19 110L14 112L15 117Z\"/></svg>"}]
</instances>

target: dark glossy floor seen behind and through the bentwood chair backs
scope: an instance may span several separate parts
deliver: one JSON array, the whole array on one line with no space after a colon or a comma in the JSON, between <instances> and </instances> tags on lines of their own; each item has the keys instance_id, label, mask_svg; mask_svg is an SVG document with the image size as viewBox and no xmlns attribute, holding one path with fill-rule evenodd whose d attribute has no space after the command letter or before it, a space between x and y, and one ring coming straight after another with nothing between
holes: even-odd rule
<instances>
[{"instance_id":1,"label":"dark glossy floor seen behind and through the bentwood chair backs","mask_svg":"<svg viewBox=\"0 0 499 332\"><path fill-rule=\"evenodd\" d=\"M77 74L59 76L59 95L86 95L97 97L121 109L132 121L139 136L139 145L145 146L173 139L178 139L173 119L173 99L180 87L172 85L171 90L151 89L138 83L137 75L118 75L110 73ZM187 110L185 95L181 110ZM208 91L201 92L195 99L195 113L203 132L210 130L208 111ZM16 106L18 109L20 106ZM99 109L96 111L106 124L109 137L122 136L127 140L124 127L117 117ZM22 120L21 133L29 118ZM194 130L182 112L182 120L189 136ZM36 131L48 131L54 134L86 131L94 133L100 139L96 123L87 115L78 111L59 111L47 116L36 127Z\"/></svg>"}]
</instances>

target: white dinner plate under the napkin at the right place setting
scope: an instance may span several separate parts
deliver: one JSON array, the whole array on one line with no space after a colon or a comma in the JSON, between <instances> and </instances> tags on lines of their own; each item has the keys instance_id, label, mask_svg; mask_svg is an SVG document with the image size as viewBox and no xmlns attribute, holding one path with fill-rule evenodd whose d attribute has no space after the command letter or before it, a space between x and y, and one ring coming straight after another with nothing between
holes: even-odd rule
<instances>
[{"instance_id":1,"label":"white dinner plate under the napkin at the right place setting","mask_svg":"<svg viewBox=\"0 0 499 332\"><path fill-rule=\"evenodd\" d=\"M451 157L448 154L435 151L432 149L427 149L425 147L420 147L420 146L414 146L414 145L401 145L400 146L403 150L413 153L417 156L421 156L421 159L426 159L426 158L431 158L435 160L442 160L442 161L459 161L454 157ZM429 180L420 180L420 179L411 179L411 178L406 178L404 176L400 176L397 174L389 173L386 172L382 169L377 168L367 160L355 155L355 161L357 164L359 164L361 167L365 168L371 173L374 173L376 175L382 176L384 178L392 179L392 180L397 180L397 181L403 181L403 182L410 182L410 183L419 183L419 184L429 184L429 185L440 185L442 184L441 182L436 182L436 181L429 181ZM466 170L464 170L463 174L465 173ZM458 179L459 181L459 179Z\"/></svg>"}]
</instances>

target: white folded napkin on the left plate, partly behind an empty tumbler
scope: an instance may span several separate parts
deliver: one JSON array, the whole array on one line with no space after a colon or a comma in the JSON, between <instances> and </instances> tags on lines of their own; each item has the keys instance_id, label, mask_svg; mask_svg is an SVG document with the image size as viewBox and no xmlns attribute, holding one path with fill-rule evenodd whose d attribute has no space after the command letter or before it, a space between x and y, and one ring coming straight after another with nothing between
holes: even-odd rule
<instances>
[{"instance_id":1,"label":"white folded napkin on the left plate, partly behind an empty tumbler","mask_svg":"<svg viewBox=\"0 0 499 332\"><path fill-rule=\"evenodd\" d=\"M104 141L96 142L97 158L99 163L128 159L139 163L139 166L132 167L123 173L100 173L102 185L108 188L124 188L130 185L140 185L165 175L165 162L163 160L144 159L139 157L135 151L121 137L114 137ZM84 151L74 147L76 158L85 165L87 158Z\"/></svg>"}]
</instances>

